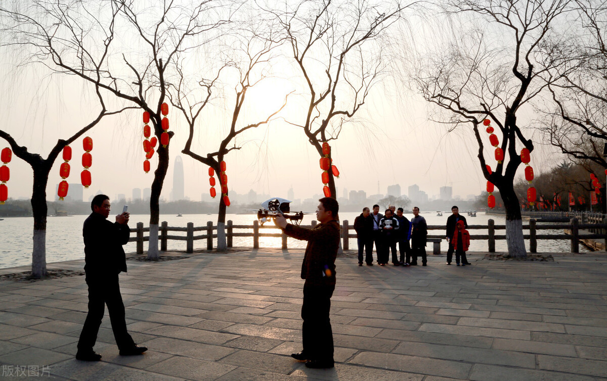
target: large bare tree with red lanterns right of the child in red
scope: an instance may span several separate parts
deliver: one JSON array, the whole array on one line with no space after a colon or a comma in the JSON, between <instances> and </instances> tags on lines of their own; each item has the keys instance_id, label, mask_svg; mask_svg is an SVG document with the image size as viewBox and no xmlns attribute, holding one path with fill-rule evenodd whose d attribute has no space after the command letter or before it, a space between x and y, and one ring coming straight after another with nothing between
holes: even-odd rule
<instances>
[{"instance_id":1,"label":"large bare tree with red lanterns right of the child in red","mask_svg":"<svg viewBox=\"0 0 607 381\"><path fill-rule=\"evenodd\" d=\"M568 12L569 0L450 0L447 15L466 19L467 34L446 48L434 47L420 62L416 84L424 98L443 110L441 121L452 128L472 127L484 177L500 190L506 209L506 241L512 257L526 257L521 206L514 178L520 149L534 149L525 136L526 110L547 83L542 76L559 65L540 55L539 45L553 24ZM469 28L475 22L482 29ZM436 53L442 52L442 53ZM487 160L483 120L489 118L500 137L503 161ZM519 118L522 120L520 121ZM487 170L491 164L492 173Z\"/></svg>"}]
</instances>

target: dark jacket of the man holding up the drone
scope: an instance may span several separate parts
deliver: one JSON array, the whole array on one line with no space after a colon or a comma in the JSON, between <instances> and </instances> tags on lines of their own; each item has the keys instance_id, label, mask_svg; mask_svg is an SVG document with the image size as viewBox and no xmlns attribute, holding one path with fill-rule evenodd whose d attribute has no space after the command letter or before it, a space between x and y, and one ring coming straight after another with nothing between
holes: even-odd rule
<instances>
[{"instance_id":1,"label":"dark jacket of the man holding up the drone","mask_svg":"<svg viewBox=\"0 0 607 381\"><path fill-rule=\"evenodd\" d=\"M287 224L285 234L308 241L302 263L302 279L314 286L335 285L335 258L339 248L339 224L336 220L312 229Z\"/></svg>"}]
</instances>

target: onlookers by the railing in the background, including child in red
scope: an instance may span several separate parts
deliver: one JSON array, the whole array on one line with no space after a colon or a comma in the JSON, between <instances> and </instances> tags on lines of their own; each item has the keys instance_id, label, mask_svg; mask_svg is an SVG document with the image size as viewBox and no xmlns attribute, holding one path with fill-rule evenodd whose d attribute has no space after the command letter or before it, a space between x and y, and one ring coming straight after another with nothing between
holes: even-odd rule
<instances>
[{"instance_id":1,"label":"onlookers by the railing in the background, including child in red","mask_svg":"<svg viewBox=\"0 0 607 381\"><path fill-rule=\"evenodd\" d=\"M470 265L466 251L470 246L468 224L463 215L459 215L457 206L451 208L452 214L447 218L447 265L451 265L453 252L459 266ZM403 214L402 207L390 206L385 214L379 213L379 205L373 205L373 212L368 207L362 209L361 215L354 219L354 230L358 238L358 265L362 266L363 252L367 266L373 266L373 246L375 245L377 263L388 264L392 251L394 266L415 266L421 257L422 266L427 265L426 241L428 226L426 218L419 215L419 207L413 207L411 221ZM398 243L398 251L396 244ZM400 254L400 257L399 257Z\"/></svg>"}]
</instances>

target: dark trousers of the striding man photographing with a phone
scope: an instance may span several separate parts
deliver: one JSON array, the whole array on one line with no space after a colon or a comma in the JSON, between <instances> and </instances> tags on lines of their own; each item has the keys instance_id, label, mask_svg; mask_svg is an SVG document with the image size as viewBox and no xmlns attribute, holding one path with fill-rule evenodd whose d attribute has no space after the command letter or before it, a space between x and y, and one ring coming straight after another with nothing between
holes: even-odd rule
<instances>
[{"instance_id":1,"label":"dark trousers of the striding man photographing with a phone","mask_svg":"<svg viewBox=\"0 0 607 381\"><path fill-rule=\"evenodd\" d=\"M124 303L120 295L120 286L118 286L118 274L95 280L87 276L86 284L89 286L89 313L86 315L80 340L78 340L78 351L93 350L105 312L105 305L107 305L110 315L110 323L112 323L112 331L114 331L118 349L128 349L134 346L131 335L126 331Z\"/></svg>"}]
</instances>

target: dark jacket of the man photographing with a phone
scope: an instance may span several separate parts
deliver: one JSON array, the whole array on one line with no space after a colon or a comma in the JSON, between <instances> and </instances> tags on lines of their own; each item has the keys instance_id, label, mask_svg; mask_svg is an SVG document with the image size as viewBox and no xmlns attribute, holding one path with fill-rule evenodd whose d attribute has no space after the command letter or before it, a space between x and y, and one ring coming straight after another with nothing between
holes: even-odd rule
<instances>
[{"instance_id":1,"label":"dark jacket of the man photographing with a phone","mask_svg":"<svg viewBox=\"0 0 607 381\"><path fill-rule=\"evenodd\" d=\"M87 277L126 272L123 244L131 234L126 224L111 223L103 215L91 213L84 221L84 271Z\"/></svg>"}]
</instances>

